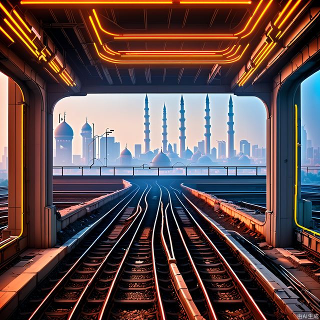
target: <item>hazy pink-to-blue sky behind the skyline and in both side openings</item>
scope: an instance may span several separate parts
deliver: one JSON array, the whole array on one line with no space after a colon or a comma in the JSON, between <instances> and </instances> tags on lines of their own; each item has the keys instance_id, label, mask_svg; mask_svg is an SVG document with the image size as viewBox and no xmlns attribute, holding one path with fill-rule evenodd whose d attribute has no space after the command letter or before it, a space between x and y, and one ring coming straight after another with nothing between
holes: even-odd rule
<instances>
[{"instance_id":1,"label":"hazy pink-to-blue sky behind the skyline and in both side openings","mask_svg":"<svg viewBox=\"0 0 320 320\"><path fill-rule=\"evenodd\" d=\"M301 85L302 124L306 125L308 138L314 146L320 145L320 71L314 73ZM151 148L161 147L162 107L166 104L168 141L179 143L180 94L148 94L150 113ZM205 94L183 94L185 108L186 145L190 148L204 139ZM211 115L211 147L216 140L227 141L228 94L209 94ZM265 109L254 97L233 96L234 146L238 150L239 140L247 139L251 144L265 147ZM127 143L134 152L133 144L143 145L144 94L88 94L85 97L68 97L60 100L54 109L53 127L58 124L58 114L66 111L66 121L74 131L73 153L81 153L80 130L88 116L95 124L95 133L101 134L106 127L113 128L121 149ZM7 78L0 74L0 156L7 145Z\"/></svg>"}]
</instances>

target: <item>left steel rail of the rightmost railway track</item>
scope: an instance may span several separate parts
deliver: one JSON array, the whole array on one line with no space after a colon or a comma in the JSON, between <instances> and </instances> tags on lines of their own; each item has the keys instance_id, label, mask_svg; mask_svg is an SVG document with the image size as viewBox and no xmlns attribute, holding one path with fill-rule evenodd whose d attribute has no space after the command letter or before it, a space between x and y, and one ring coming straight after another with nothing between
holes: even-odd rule
<instances>
[{"instance_id":1,"label":"left steel rail of the rightmost railway track","mask_svg":"<svg viewBox=\"0 0 320 320\"><path fill-rule=\"evenodd\" d=\"M201 291L202 291L202 293L203 293L203 295L204 295L204 299L205 299L205 302L206 302L207 307L208 307L208 315L209 315L209 318L210 318L211 320L217 320L218 317L217 317L217 315L216 315L216 312L215 312L215 310L214 310L214 308L213 308L213 305L212 305L211 300L210 300L210 298L209 298L209 295L208 295L208 293L207 293L207 291L206 291L206 288L205 288L205 286L204 286L204 283L203 283L203 281L202 281L202 279L201 279L201 276L200 276L200 274L199 274L199 272L198 272L198 270L197 270L197 268L196 268L196 266L195 266L195 263L194 263L194 261L193 261L193 259L192 259L192 257L191 257L191 254L190 254L190 252L189 252L189 250L188 250L188 248L187 248L187 245L186 245L186 243L185 243L185 240L184 240L184 237L183 237L183 235L182 235L181 229L180 229L180 227L179 227L179 225L178 225L178 222L177 222L177 220L176 220L176 217L175 217L175 214L174 214L174 211L173 211L173 207L172 207L172 201L171 201L170 192L169 192L169 190L168 190L165 186L162 185L162 187L163 187L164 189L166 189L166 191L168 192L169 204L170 204L170 209L171 209L171 212L172 212L172 216L173 216L173 219L174 219L174 221L175 221L178 234L180 235L180 238L181 238L181 241L182 241L182 243L183 243L184 249L185 249L186 254L187 254L187 256L188 256L189 262L190 262L190 264L191 264L192 270L193 270L193 272L194 272L194 274L195 274L195 276L196 276L197 282L198 282L198 284L199 284L199 286L200 286L200 288L201 288Z\"/></svg>"}]
</instances>

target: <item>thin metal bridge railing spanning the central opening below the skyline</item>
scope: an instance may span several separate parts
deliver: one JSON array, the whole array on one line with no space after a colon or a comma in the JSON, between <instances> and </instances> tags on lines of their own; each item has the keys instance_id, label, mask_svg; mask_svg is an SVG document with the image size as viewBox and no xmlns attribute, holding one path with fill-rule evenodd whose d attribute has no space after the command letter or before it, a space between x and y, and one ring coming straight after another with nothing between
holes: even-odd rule
<instances>
[{"instance_id":1,"label":"thin metal bridge railing spanning the central opening below the skyline","mask_svg":"<svg viewBox=\"0 0 320 320\"><path fill-rule=\"evenodd\" d=\"M53 175L103 176L237 176L265 175L266 166L210 165L210 166L53 166Z\"/></svg>"}]
</instances>

